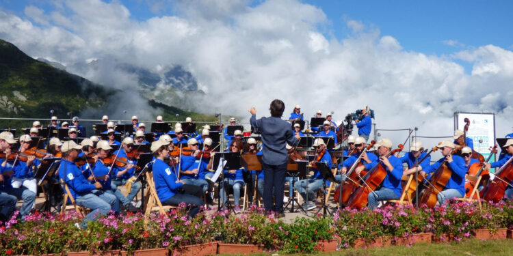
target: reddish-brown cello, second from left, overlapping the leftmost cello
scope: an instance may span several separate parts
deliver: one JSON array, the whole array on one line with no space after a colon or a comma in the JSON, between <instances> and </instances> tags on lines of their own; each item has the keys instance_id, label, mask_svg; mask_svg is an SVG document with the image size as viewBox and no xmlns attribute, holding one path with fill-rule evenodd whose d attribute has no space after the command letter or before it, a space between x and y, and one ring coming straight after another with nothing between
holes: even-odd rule
<instances>
[{"instance_id":1,"label":"reddish-brown cello, second from left, overlapping the leftmost cello","mask_svg":"<svg viewBox=\"0 0 513 256\"><path fill-rule=\"evenodd\" d=\"M392 150L384 157L389 158L389 156L399 153L403 149L404 145L399 144L395 150ZM386 169L381 165L381 163L382 161L380 160L377 165L365 174L362 180L363 185L356 189L351 199L347 202L347 206L361 210L365 205L367 205L369 193L374 193L374 190L380 186L386 177Z\"/></svg>"}]
</instances>

